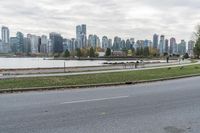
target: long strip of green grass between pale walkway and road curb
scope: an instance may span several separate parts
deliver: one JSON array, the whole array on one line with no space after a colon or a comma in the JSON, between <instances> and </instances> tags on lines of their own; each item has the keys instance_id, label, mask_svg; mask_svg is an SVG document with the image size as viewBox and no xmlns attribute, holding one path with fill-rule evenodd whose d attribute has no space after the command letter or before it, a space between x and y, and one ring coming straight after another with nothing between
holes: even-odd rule
<instances>
[{"instance_id":1,"label":"long strip of green grass between pale walkway and road curb","mask_svg":"<svg viewBox=\"0 0 200 133\"><path fill-rule=\"evenodd\" d=\"M128 82L128 81L152 80L158 78L168 78L168 77L176 77L176 76L190 75L190 74L200 74L200 65L185 66L183 69L181 69L181 67L176 67L171 69L161 68L153 70L63 76L63 77L7 79L7 80L0 80L0 89L117 83L117 82Z\"/></svg>"}]
</instances>

